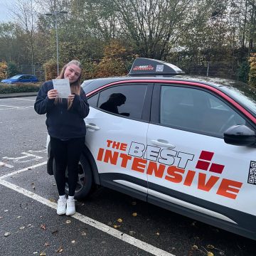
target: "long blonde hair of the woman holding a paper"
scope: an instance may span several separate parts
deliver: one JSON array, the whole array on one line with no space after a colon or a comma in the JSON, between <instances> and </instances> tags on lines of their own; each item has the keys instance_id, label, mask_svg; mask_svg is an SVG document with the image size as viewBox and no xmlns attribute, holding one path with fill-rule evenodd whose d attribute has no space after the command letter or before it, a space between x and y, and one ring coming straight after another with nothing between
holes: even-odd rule
<instances>
[{"instance_id":1,"label":"long blonde hair of the woman holding a paper","mask_svg":"<svg viewBox=\"0 0 256 256\"><path fill-rule=\"evenodd\" d=\"M78 80L76 80L75 82L70 84L70 91L71 91L71 94L80 95L80 90L81 90L80 85L81 85L81 75L82 75L82 65L81 65L80 61L78 61L78 60L71 60L69 63L64 65L64 67L60 71L60 75L58 75L57 79L63 79L66 68L68 68L68 66L73 65L73 64L78 66L78 68L80 68L81 73L80 73L80 76L79 76ZM55 99L55 104L57 104L58 102L61 102L60 98L56 98ZM73 102L71 102L71 100L68 99L68 110L72 106L72 103Z\"/></svg>"}]
</instances>

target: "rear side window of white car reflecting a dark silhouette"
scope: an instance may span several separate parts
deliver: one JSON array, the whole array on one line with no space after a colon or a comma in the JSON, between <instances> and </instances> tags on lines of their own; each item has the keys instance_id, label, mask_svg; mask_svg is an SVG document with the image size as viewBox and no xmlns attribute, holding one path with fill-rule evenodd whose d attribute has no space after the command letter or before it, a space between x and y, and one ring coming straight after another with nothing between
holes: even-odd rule
<instances>
[{"instance_id":1,"label":"rear side window of white car reflecting a dark silhouette","mask_svg":"<svg viewBox=\"0 0 256 256\"><path fill-rule=\"evenodd\" d=\"M89 98L88 102L90 105L97 106L101 110L112 114L142 119L146 85L114 86L102 90L97 95Z\"/></svg>"}]
</instances>

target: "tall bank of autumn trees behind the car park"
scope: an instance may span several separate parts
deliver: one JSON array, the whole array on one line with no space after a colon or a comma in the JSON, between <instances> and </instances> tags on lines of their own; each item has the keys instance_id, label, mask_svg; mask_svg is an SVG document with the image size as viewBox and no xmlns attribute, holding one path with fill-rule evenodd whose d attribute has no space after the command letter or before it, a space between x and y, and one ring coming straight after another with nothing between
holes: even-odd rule
<instances>
[{"instance_id":1,"label":"tall bank of autumn trees behind the car park","mask_svg":"<svg viewBox=\"0 0 256 256\"><path fill-rule=\"evenodd\" d=\"M14 20L0 23L0 61L31 67L46 63L49 80L57 76L55 18L38 13L31 19L37 15L32 2L13 6ZM248 52L255 51L252 1L69 0L54 1L51 7L44 1L36 4L46 12L68 9L68 14L57 17L60 68L61 63L80 60L85 67L82 78L127 73L135 54L171 60L196 74L205 74L210 61L210 75L230 77ZM120 49L125 49L119 56L104 53L113 40L122 42ZM242 49L239 54L238 49ZM242 72L243 68L239 69ZM44 80L43 70L38 73ZM1 77L7 74L0 70Z\"/></svg>"}]
</instances>

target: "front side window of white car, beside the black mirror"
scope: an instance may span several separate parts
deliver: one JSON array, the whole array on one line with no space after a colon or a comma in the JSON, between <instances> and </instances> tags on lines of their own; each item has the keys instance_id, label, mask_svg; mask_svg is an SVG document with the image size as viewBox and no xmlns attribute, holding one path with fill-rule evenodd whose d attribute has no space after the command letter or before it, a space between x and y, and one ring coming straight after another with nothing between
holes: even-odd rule
<instances>
[{"instance_id":1,"label":"front side window of white car, beside the black mirror","mask_svg":"<svg viewBox=\"0 0 256 256\"><path fill-rule=\"evenodd\" d=\"M215 137L235 124L245 124L240 114L209 92L175 86L161 87L160 123Z\"/></svg>"}]
</instances>

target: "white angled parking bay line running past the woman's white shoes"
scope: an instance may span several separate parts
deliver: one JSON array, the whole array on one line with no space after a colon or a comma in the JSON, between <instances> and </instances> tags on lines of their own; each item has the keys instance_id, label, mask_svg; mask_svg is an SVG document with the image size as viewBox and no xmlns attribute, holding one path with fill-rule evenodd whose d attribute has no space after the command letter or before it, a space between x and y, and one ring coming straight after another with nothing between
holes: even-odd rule
<instances>
[{"instance_id":1,"label":"white angled parking bay line running past the woman's white shoes","mask_svg":"<svg viewBox=\"0 0 256 256\"><path fill-rule=\"evenodd\" d=\"M26 169L21 169L19 171L14 171L11 174L6 174L4 176L1 176L0 177L0 184L3 185L3 186L6 186L7 188L13 189L14 191L17 191L18 193L21 193L24 196L28 196L29 198L32 198L33 200L36 200L39 203L43 203L44 205L46 205L46 206L48 206L50 208L56 209L57 208L57 204L56 203L53 203L53 202L49 201L46 198L38 196L38 195L36 195L35 193L33 193L31 191L27 191L25 188L21 188L19 186L16 186L13 183L10 183L9 181L4 181L4 178L6 178L7 176L13 176L13 175L19 174L19 173L21 173L23 171L35 169L36 167L42 166L44 164L46 164L46 161L41 163L41 164L36 164L34 166L27 167ZM153 245L149 245L146 242L143 242L141 240L133 238L130 235L122 233L119 230L111 228L108 225L100 223L99 221L93 220L92 218L89 218L89 217L87 217L85 215L82 215L80 213L75 213L74 215L72 215L70 217L75 218L76 220L80 220L82 223L90 225L93 228L97 228L98 230L101 230L102 232L107 233L108 235L112 235L114 238L118 238L119 240L127 242L130 245L134 245L135 247L138 247L139 249L142 249L145 252L149 252L152 255L156 255L156 256L159 256L159 255L161 255L161 256L175 256L175 255L172 255L169 252L166 252L166 251L161 250L161 249L159 249L157 247L154 247Z\"/></svg>"}]
</instances>

